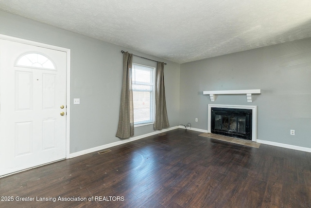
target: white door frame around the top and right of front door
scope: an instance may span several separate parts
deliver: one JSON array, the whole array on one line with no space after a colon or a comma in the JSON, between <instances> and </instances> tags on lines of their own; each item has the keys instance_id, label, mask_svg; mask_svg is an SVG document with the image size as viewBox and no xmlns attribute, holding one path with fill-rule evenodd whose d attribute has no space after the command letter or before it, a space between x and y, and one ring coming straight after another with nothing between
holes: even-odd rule
<instances>
[{"instance_id":1,"label":"white door frame around the top and right of front door","mask_svg":"<svg viewBox=\"0 0 311 208\"><path fill-rule=\"evenodd\" d=\"M70 49L0 34L0 39L66 52L66 159L70 154Z\"/></svg>"}]
</instances>

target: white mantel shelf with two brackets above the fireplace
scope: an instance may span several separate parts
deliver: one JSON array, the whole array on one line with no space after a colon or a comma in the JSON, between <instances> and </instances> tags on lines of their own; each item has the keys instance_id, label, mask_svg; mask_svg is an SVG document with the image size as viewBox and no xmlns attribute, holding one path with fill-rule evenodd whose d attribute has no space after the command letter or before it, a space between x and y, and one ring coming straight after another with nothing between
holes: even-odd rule
<instances>
[{"instance_id":1,"label":"white mantel shelf with two brackets above the fireplace","mask_svg":"<svg viewBox=\"0 0 311 208\"><path fill-rule=\"evenodd\" d=\"M252 94L261 94L260 89L256 90L214 90L214 91L203 91L203 95L209 95L210 101L215 101L215 95L238 95L246 94L248 103L253 102Z\"/></svg>"}]
</instances>

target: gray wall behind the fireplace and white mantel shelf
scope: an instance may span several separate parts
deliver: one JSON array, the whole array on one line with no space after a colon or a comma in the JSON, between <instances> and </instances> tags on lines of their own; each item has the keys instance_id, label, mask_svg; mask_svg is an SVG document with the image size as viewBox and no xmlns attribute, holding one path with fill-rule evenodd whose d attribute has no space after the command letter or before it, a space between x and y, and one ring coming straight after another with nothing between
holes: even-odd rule
<instances>
[{"instance_id":1,"label":"gray wall behind the fireplace and white mantel shelf","mask_svg":"<svg viewBox=\"0 0 311 208\"><path fill-rule=\"evenodd\" d=\"M181 64L180 83L181 123L207 130L208 104L257 105L258 139L311 148L311 38ZM203 95L243 89L261 94Z\"/></svg>"}]
</instances>

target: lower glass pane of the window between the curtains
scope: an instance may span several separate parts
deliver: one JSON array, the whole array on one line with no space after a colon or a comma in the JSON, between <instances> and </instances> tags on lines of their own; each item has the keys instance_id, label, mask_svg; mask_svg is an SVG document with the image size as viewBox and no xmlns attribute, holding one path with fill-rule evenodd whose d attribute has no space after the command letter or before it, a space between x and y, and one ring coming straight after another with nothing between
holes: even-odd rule
<instances>
[{"instance_id":1,"label":"lower glass pane of the window between the curtains","mask_svg":"<svg viewBox=\"0 0 311 208\"><path fill-rule=\"evenodd\" d=\"M150 99L151 92L133 91L134 123L152 121Z\"/></svg>"}]
</instances>

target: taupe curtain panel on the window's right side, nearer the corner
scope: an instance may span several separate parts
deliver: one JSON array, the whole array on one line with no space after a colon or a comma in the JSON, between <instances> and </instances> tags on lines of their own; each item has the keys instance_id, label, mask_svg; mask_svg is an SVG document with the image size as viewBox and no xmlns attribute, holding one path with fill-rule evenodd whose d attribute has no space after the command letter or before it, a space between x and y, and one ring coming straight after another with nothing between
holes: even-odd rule
<instances>
[{"instance_id":1,"label":"taupe curtain panel on the window's right side, nearer the corner","mask_svg":"<svg viewBox=\"0 0 311 208\"><path fill-rule=\"evenodd\" d=\"M164 63L157 62L155 77L155 130L161 130L170 126L167 117L165 88L164 88Z\"/></svg>"}]
</instances>

